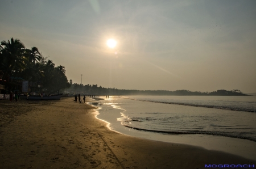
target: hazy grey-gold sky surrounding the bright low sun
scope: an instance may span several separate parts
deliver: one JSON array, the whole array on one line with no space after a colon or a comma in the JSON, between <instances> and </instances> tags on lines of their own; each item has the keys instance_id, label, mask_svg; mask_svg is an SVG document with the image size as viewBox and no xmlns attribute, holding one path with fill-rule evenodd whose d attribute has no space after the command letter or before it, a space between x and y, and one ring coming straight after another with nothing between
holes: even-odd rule
<instances>
[{"instance_id":1,"label":"hazy grey-gold sky surrounding the bright low sun","mask_svg":"<svg viewBox=\"0 0 256 169\"><path fill-rule=\"evenodd\" d=\"M74 83L250 93L255 8L254 0L1 0L0 40L37 47Z\"/></svg>"}]
</instances>

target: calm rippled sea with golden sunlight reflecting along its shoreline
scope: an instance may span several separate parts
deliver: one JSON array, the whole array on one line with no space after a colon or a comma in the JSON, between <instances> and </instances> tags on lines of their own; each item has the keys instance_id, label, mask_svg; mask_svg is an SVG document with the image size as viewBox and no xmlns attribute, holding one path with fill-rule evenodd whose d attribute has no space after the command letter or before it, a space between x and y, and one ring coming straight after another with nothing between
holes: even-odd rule
<instances>
[{"instance_id":1,"label":"calm rippled sea with golden sunlight reflecting along its shoreline","mask_svg":"<svg viewBox=\"0 0 256 169\"><path fill-rule=\"evenodd\" d=\"M256 159L256 96L102 96L90 104L122 134Z\"/></svg>"}]
</instances>

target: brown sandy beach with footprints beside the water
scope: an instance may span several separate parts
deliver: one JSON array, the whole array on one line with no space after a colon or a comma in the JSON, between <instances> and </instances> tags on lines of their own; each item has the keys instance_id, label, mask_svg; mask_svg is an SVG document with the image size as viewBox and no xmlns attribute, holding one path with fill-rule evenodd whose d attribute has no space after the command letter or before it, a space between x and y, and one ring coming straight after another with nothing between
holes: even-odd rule
<instances>
[{"instance_id":1,"label":"brown sandy beach with footprints beside the water","mask_svg":"<svg viewBox=\"0 0 256 169\"><path fill-rule=\"evenodd\" d=\"M205 168L256 164L200 147L143 140L106 128L73 98L0 100L0 168Z\"/></svg>"}]
</instances>

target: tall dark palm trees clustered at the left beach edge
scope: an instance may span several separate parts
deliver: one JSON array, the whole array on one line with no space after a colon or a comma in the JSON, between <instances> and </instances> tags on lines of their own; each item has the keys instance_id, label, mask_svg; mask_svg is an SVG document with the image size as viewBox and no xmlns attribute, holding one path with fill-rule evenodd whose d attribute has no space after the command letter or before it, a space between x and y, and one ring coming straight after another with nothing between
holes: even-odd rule
<instances>
[{"instance_id":1,"label":"tall dark palm trees clustered at the left beach edge","mask_svg":"<svg viewBox=\"0 0 256 169\"><path fill-rule=\"evenodd\" d=\"M14 90L17 87L10 82L11 77L35 82L41 88L36 87L34 90L44 90L46 93L70 87L64 66L56 66L36 47L25 48L19 39L12 37L11 40L1 41L0 63L0 70L3 73L0 83L5 84L6 90Z\"/></svg>"}]
</instances>

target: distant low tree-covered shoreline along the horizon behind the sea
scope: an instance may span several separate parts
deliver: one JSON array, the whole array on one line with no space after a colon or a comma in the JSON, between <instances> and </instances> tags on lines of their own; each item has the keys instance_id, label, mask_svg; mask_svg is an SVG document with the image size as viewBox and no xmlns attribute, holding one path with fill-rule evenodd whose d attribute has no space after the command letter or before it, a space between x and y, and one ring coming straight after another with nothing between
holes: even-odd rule
<instances>
[{"instance_id":1,"label":"distant low tree-covered shoreline along the horizon behind the sea","mask_svg":"<svg viewBox=\"0 0 256 169\"><path fill-rule=\"evenodd\" d=\"M67 90L70 93L83 93L88 95L180 95L180 96L248 96L243 94L240 90L217 90L212 92L200 92L200 91L189 91L189 90L125 90L117 88L105 88L98 87L97 84L72 84Z\"/></svg>"}]
</instances>

